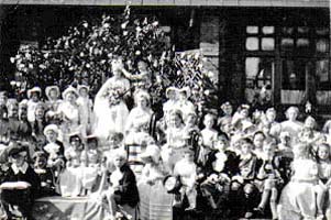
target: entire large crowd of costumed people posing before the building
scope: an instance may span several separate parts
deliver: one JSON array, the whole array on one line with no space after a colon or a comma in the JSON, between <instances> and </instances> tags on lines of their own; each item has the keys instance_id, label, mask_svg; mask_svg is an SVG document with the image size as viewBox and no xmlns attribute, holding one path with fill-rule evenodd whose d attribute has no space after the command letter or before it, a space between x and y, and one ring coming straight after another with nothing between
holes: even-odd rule
<instances>
[{"instance_id":1,"label":"entire large crowd of costumed people posing before the building","mask_svg":"<svg viewBox=\"0 0 331 220\"><path fill-rule=\"evenodd\" d=\"M114 61L95 100L88 85L33 87L23 100L0 92L8 219L33 219L33 200L45 196L95 196L108 219L123 205L139 209L142 220L173 219L174 209L331 219L330 121L319 131L311 116L297 120L297 107L278 122L274 108L252 116L249 105L234 111L228 101L218 114L200 117L187 87L167 88L163 111L154 112L144 88L151 76L140 65L133 75Z\"/></svg>"}]
</instances>

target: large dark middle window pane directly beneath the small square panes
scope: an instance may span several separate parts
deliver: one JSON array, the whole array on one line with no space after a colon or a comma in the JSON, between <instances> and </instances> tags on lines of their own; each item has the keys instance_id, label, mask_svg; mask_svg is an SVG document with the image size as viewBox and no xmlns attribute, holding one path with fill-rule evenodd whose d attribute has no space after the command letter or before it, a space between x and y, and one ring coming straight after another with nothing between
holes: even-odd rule
<instances>
[{"instance_id":1,"label":"large dark middle window pane directly beneath the small square panes","mask_svg":"<svg viewBox=\"0 0 331 220\"><path fill-rule=\"evenodd\" d=\"M306 81L306 65L302 59L283 62L283 89L304 90Z\"/></svg>"}]
</instances>

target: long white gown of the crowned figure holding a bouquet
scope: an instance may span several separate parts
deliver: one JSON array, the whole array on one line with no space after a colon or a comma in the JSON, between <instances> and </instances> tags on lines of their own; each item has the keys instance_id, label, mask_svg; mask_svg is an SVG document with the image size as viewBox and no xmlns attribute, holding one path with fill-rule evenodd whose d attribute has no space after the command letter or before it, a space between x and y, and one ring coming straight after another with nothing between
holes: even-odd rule
<instances>
[{"instance_id":1,"label":"long white gown of the crowned figure holding a bouquet","mask_svg":"<svg viewBox=\"0 0 331 220\"><path fill-rule=\"evenodd\" d=\"M112 89L128 91L130 82L125 78L109 78L98 91L95 99L95 128L93 133L106 141L111 132L124 133L124 127L129 116L129 109L121 99L118 105L110 106L108 92Z\"/></svg>"}]
</instances>

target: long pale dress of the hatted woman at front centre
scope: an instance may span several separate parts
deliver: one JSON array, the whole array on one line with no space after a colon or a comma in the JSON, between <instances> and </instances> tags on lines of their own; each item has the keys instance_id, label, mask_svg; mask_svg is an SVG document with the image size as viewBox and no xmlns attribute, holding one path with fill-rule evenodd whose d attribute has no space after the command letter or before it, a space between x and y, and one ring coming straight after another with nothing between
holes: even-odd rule
<instances>
[{"instance_id":1,"label":"long pale dress of the hatted woman at front centre","mask_svg":"<svg viewBox=\"0 0 331 220\"><path fill-rule=\"evenodd\" d=\"M137 184L141 220L173 219L173 195L166 191L163 185L164 177L164 167L161 163L145 165L141 182ZM154 180L154 184L147 184L146 179Z\"/></svg>"}]
</instances>

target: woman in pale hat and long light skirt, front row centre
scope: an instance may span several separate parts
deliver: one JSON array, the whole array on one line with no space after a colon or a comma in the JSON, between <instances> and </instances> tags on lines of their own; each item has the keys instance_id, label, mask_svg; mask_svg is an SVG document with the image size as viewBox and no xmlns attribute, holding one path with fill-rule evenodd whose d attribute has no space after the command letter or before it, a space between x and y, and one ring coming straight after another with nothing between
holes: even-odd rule
<instances>
[{"instance_id":1,"label":"woman in pale hat and long light skirt, front row centre","mask_svg":"<svg viewBox=\"0 0 331 220\"><path fill-rule=\"evenodd\" d=\"M168 172L161 160L161 148L154 144L148 145L141 157L145 162L137 184L141 197L141 219L172 220L173 196L166 191L163 185L163 179L168 175Z\"/></svg>"}]
</instances>

